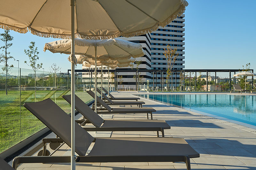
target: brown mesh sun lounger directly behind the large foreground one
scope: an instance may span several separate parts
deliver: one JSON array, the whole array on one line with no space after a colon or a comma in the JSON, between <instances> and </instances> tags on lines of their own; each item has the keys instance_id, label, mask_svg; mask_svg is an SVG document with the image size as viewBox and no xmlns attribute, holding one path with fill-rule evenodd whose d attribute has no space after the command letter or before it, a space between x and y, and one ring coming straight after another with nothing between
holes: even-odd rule
<instances>
[{"instance_id":1,"label":"brown mesh sun lounger directly behind the large foreground one","mask_svg":"<svg viewBox=\"0 0 256 170\"><path fill-rule=\"evenodd\" d=\"M71 103L71 95L62 97L68 103ZM56 107L58 106L56 105ZM159 131L161 131L162 137L164 137L164 129L171 129L170 125L164 120L104 120L76 95L75 108L95 126L84 128L86 131L157 131L157 137L159 137ZM84 125L86 120L76 122Z\"/></svg>"}]
</instances>

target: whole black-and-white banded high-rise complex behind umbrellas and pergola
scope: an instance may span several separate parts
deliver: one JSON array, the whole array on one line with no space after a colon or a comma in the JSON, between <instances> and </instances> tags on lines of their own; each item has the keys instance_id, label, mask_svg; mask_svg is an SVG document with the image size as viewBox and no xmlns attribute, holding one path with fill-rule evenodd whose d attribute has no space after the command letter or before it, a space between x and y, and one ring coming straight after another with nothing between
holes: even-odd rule
<instances>
[{"instance_id":1,"label":"whole black-and-white banded high-rise complex behind umbrellas and pergola","mask_svg":"<svg viewBox=\"0 0 256 170\"><path fill-rule=\"evenodd\" d=\"M185 68L184 66L184 59L185 59L185 52L184 52L184 31L185 31L185 15L182 14L179 18L176 18L174 21L172 21L167 26L159 27L156 31L136 37L118 37L120 39L131 41L135 43L140 43L143 47L143 49L146 51L146 55L139 57L136 59L136 61L141 61L139 68L140 69L154 69L154 70L164 70L166 69L166 59L164 56L164 48L169 44L173 48L177 48L177 53L179 53L179 56L177 57L176 62L174 63L173 69L174 70L182 70ZM136 65L134 65L136 67ZM85 67L82 68L83 70L86 69ZM97 67L100 72L100 67ZM103 69L107 69L106 66L103 66ZM124 70L124 69L130 69L130 68L116 68L116 72L118 70ZM99 74L99 73L98 73ZM133 89L135 87L135 79L133 78L133 75L135 72L119 72L119 75L123 76L123 83L122 87L131 88ZM142 85L147 84L147 80L151 82L153 81L153 74L151 72L141 72L140 75L143 77ZM84 77L89 77L88 73L83 73ZM103 73L103 77L107 78L107 73ZM93 75L94 77L94 75ZM164 73L164 78L166 77ZM157 73L157 86L160 86L160 72ZM179 73L177 73L177 86L179 86ZM166 81L164 80L164 86L166 86ZM171 84L171 83L170 83ZM173 74L173 85L175 86L175 73ZM155 85L156 86L156 85ZM119 85L118 85L119 88Z\"/></svg>"}]
</instances>

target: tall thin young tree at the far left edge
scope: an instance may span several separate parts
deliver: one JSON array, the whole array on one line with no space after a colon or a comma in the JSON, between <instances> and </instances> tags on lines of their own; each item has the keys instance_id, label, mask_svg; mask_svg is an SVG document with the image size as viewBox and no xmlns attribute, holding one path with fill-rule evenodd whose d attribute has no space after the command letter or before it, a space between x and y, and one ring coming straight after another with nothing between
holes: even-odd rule
<instances>
[{"instance_id":1,"label":"tall thin young tree at the far left edge","mask_svg":"<svg viewBox=\"0 0 256 170\"><path fill-rule=\"evenodd\" d=\"M8 60L10 58L13 58L13 56L10 55L10 52L7 52L8 48L12 46L12 43L8 43L9 41L13 40L13 37L9 34L9 30L4 30L4 33L1 33L0 36L2 37L0 40L4 41L4 46L0 47L0 49L3 50L4 54L2 53L0 55L0 63L4 63L4 68L3 71L5 72L5 94L7 95L7 76L8 76L8 71L11 70L11 68L8 67L13 67L13 65L8 64ZM15 60L15 59L14 59Z\"/></svg>"}]
</instances>

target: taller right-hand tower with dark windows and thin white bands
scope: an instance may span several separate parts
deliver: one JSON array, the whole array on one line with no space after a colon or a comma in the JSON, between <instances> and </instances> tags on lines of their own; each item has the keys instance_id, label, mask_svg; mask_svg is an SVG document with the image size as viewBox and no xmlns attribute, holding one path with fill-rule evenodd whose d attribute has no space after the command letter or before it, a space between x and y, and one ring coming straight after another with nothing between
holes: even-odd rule
<instances>
[{"instance_id":1,"label":"taller right-hand tower with dark windows and thin white bands","mask_svg":"<svg viewBox=\"0 0 256 170\"><path fill-rule=\"evenodd\" d=\"M185 45L185 38L184 38L184 31L185 31L185 15L182 14L179 18L176 18L167 26L159 27L156 31L151 33L151 69L154 70L164 70L167 67L167 61L164 56L164 48L169 44L171 47L177 48L177 53L179 56L176 59L176 62L173 65L173 70L182 70L185 68L184 66L184 59L185 59L185 52L184 52L184 45ZM179 72L177 75L173 73L173 86L177 83L177 87L179 86ZM151 76L153 78L153 74ZM157 86L160 86L160 72L157 72ZM166 77L164 73L164 78ZM177 77L177 79L176 79ZM176 80L175 80L176 79ZM171 79L170 79L171 81ZM175 83L176 82L176 83ZM164 86L166 86L166 80L164 80ZM171 84L171 82L170 82Z\"/></svg>"}]
</instances>

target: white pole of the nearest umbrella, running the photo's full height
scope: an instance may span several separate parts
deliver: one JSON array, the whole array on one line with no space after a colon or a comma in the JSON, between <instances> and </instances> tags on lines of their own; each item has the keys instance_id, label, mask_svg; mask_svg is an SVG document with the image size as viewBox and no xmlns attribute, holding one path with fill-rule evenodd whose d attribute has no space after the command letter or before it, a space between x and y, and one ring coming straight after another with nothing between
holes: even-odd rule
<instances>
[{"instance_id":1,"label":"white pole of the nearest umbrella, running the photo's full height","mask_svg":"<svg viewBox=\"0 0 256 170\"><path fill-rule=\"evenodd\" d=\"M71 5L71 57L75 61L75 0ZM75 161L75 63L71 62L71 170L76 169Z\"/></svg>"}]
</instances>

